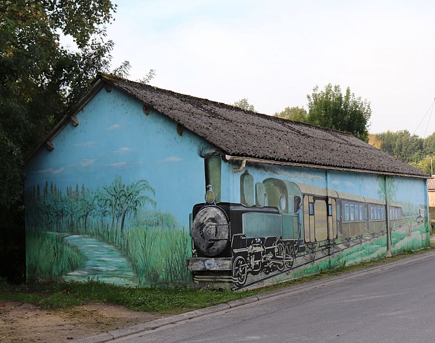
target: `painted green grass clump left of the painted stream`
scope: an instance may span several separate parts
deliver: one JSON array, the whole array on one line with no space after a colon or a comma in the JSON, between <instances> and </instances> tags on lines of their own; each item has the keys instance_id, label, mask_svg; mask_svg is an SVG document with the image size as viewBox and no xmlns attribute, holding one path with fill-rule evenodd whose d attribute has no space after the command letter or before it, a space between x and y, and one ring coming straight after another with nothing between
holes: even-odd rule
<instances>
[{"instance_id":1,"label":"painted green grass clump left of the painted stream","mask_svg":"<svg viewBox=\"0 0 435 343\"><path fill-rule=\"evenodd\" d=\"M27 279L58 279L85 261L77 246L57 233L27 229Z\"/></svg>"}]
</instances>

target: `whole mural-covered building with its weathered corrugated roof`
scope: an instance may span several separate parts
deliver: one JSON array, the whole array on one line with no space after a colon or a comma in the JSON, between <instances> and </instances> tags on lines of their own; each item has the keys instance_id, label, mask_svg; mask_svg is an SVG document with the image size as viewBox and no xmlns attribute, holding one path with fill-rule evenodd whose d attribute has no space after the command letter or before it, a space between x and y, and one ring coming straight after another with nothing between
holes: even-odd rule
<instances>
[{"instance_id":1,"label":"whole mural-covered building with its weathered corrugated roof","mask_svg":"<svg viewBox=\"0 0 435 343\"><path fill-rule=\"evenodd\" d=\"M428 177L345 132L101 74L27 161L27 277L249 287L423 248Z\"/></svg>"}]
</instances>

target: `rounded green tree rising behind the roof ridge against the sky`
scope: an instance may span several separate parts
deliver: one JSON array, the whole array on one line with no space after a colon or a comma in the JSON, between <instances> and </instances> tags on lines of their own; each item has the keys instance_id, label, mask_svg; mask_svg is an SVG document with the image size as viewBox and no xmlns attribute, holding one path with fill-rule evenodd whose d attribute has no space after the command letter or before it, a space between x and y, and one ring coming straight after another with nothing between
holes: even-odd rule
<instances>
[{"instance_id":1,"label":"rounded green tree rising behind the roof ridge against the sky","mask_svg":"<svg viewBox=\"0 0 435 343\"><path fill-rule=\"evenodd\" d=\"M368 141L370 103L356 97L349 87L343 95L338 85L327 84L324 91L315 86L307 98L308 123L350 132L362 141Z\"/></svg>"}]
</instances>

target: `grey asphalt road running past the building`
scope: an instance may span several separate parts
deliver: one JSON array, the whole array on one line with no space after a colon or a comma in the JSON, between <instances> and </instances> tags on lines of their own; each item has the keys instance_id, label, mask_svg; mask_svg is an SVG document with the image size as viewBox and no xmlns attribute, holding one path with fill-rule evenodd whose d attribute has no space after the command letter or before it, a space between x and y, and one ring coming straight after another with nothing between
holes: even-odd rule
<instances>
[{"instance_id":1,"label":"grey asphalt road running past the building","mask_svg":"<svg viewBox=\"0 0 435 343\"><path fill-rule=\"evenodd\" d=\"M435 342L435 252L112 342Z\"/></svg>"}]
</instances>

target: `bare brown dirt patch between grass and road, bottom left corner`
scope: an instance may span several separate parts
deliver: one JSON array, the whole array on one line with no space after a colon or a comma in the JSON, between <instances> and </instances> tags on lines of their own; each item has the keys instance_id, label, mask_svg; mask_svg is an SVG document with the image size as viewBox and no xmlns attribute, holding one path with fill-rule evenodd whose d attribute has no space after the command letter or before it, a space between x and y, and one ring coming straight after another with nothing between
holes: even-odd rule
<instances>
[{"instance_id":1,"label":"bare brown dirt patch between grass and road, bottom left corner","mask_svg":"<svg viewBox=\"0 0 435 343\"><path fill-rule=\"evenodd\" d=\"M162 316L101 303L40 309L0 300L0 342L72 342L157 318Z\"/></svg>"}]
</instances>

